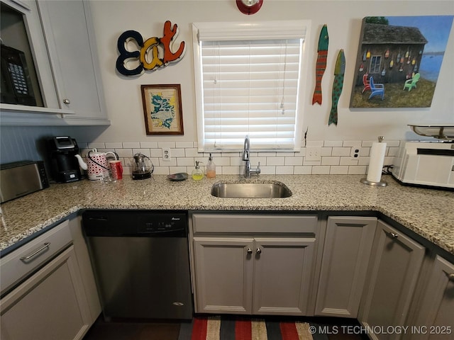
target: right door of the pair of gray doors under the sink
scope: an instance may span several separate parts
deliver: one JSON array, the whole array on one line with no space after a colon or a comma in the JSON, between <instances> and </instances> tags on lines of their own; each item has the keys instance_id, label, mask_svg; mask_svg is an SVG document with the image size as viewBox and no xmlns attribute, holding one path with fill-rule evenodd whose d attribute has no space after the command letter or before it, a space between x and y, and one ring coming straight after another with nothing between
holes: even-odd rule
<instances>
[{"instance_id":1,"label":"right door of the pair of gray doors under the sink","mask_svg":"<svg viewBox=\"0 0 454 340\"><path fill-rule=\"evenodd\" d=\"M254 314L306 314L314 244L314 238L255 238Z\"/></svg>"}]
</instances>

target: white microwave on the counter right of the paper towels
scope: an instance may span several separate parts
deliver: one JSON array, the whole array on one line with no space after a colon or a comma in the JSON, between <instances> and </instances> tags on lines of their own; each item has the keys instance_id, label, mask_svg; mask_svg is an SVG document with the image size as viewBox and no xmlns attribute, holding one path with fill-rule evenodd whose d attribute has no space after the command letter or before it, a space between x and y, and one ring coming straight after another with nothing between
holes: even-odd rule
<instances>
[{"instance_id":1,"label":"white microwave on the counter right of the paper towels","mask_svg":"<svg viewBox=\"0 0 454 340\"><path fill-rule=\"evenodd\" d=\"M402 141L392 175L403 184L454 189L454 143Z\"/></svg>"}]
</instances>

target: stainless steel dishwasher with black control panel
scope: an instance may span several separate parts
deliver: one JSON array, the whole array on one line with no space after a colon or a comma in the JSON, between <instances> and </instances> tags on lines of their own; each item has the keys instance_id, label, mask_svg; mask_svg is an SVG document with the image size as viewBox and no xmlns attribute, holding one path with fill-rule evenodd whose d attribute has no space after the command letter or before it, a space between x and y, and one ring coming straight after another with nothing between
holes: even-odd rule
<instances>
[{"instance_id":1,"label":"stainless steel dishwasher with black control panel","mask_svg":"<svg viewBox=\"0 0 454 340\"><path fill-rule=\"evenodd\" d=\"M184 211L82 214L104 319L192 319L187 221Z\"/></svg>"}]
</instances>

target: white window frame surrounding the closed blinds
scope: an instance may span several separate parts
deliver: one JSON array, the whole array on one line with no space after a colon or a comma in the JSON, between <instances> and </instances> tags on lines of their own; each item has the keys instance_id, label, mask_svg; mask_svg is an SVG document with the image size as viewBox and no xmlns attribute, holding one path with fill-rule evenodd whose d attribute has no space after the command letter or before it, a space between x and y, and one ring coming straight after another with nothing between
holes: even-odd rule
<instances>
[{"instance_id":1,"label":"white window frame surrounding the closed blinds","mask_svg":"<svg viewBox=\"0 0 454 340\"><path fill-rule=\"evenodd\" d=\"M197 148L199 152L228 152L239 151L243 145L233 147L213 148L204 145L204 99L203 99L203 76L201 65L201 40L269 40L269 39L303 39L301 47L299 69L299 91L297 94L296 123L294 130L294 145L286 148L264 149L255 147L251 142L251 149L260 152L298 152L301 149L302 126L303 126L303 107L305 103L306 86L303 79L307 79L309 67L309 40L310 40L311 21L260 21L255 23L224 22L224 23L193 23L192 42L194 52L194 84L196 96L196 130Z\"/></svg>"}]
</instances>

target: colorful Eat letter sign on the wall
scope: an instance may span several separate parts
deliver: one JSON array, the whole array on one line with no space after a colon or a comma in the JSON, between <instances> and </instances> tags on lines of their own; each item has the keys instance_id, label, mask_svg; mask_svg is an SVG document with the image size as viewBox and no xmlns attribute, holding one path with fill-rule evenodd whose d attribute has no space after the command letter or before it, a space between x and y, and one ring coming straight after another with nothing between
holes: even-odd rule
<instances>
[{"instance_id":1,"label":"colorful Eat letter sign on the wall","mask_svg":"<svg viewBox=\"0 0 454 340\"><path fill-rule=\"evenodd\" d=\"M178 26L172 27L170 21L164 23L164 34L162 38L152 37L143 41L142 35L135 30L127 30L120 35L117 42L118 58L116 60L116 69L123 76L140 76L146 70L153 71L159 67L165 67L170 62L178 62L184 55L186 44L180 42L176 52L172 52L174 38L178 35ZM131 40L140 47L140 50L128 50L128 44ZM161 47L161 49L159 48ZM161 53L161 50L163 51ZM134 62L135 61L135 62ZM127 64L138 64L134 69L129 69Z\"/></svg>"}]
</instances>

